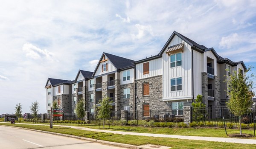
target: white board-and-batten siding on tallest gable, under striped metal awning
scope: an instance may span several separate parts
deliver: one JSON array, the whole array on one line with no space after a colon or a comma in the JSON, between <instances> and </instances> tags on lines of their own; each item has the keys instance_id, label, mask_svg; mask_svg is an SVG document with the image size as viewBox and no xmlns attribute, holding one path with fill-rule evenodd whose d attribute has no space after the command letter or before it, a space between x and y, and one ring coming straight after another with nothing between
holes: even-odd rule
<instances>
[{"instance_id":1,"label":"white board-and-batten siding on tallest gable, under striped metal awning","mask_svg":"<svg viewBox=\"0 0 256 149\"><path fill-rule=\"evenodd\" d=\"M171 68L170 56L166 54L168 48L163 53L163 101L184 100L192 98L192 52L191 46L182 39L175 37L169 46L184 43L182 53L182 65ZM182 90L171 91L171 79L182 78Z\"/></svg>"}]
</instances>

